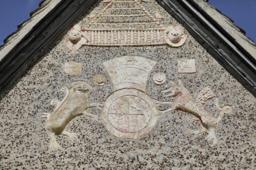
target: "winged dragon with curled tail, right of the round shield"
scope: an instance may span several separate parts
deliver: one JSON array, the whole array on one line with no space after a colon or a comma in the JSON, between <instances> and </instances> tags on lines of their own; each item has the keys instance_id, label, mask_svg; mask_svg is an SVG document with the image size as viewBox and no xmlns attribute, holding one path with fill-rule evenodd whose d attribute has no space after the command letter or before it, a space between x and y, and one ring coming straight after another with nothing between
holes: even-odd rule
<instances>
[{"instance_id":1,"label":"winged dragon with curled tail, right of the round shield","mask_svg":"<svg viewBox=\"0 0 256 170\"><path fill-rule=\"evenodd\" d=\"M194 99L182 81L179 80L178 82L178 84L172 82L172 86L163 91L164 93L169 93L166 96L174 97L174 103L172 104L173 106L171 110L180 110L195 115L201 128L197 130L189 129L188 132L197 136L208 131L208 136L205 139L212 145L216 144L217 138L215 136L215 125L221 120L224 113L231 113L232 107L224 106L221 108L219 106L218 98L215 98L215 104L220 110L219 115L215 117L210 111L204 108L205 102L208 99L215 97L215 94L211 91L209 86L200 91L196 99Z\"/></svg>"}]
</instances>

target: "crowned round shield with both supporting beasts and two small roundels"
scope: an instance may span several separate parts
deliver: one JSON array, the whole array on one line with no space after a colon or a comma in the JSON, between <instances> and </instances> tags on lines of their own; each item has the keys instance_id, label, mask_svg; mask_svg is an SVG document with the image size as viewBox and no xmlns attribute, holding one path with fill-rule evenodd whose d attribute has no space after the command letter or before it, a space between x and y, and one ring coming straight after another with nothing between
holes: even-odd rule
<instances>
[{"instance_id":1,"label":"crowned round shield with both supporting beasts and two small roundels","mask_svg":"<svg viewBox=\"0 0 256 170\"><path fill-rule=\"evenodd\" d=\"M148 95L146 86L149 74L156 63L153 59L138 55L119 56L104 61L103 65L113 85L113 92L104 102L89 102L87 93L91 87L82 80L72 82L69 88L61 88L61 91L66 92L65 97L62 101L53 99L51 104L56 106L54 110L41 115L41 117L47 118L46 129L51 136L50 148L60 147L56 141L56 135L66 135L70 139L77 138L78 134L67 132L65 128L73 118L80 115L102 123L116 137L139 139L155 127L160 117L174 110L195 115L201 128L189 129L188 132L199 135L208 131L206 139L212 145L216 144L215 125L221 120L224 113L230 113L232 108L230 106L220 107L218 98L209 86L201 90L194 99L181 80L178 84L171 81L172 86L163 90L164 93L168 93L167 97L174 97L173 101L153 99ZM163 84L166 81L166 75L162 72L154 73L153 80L157 84ZM106 77L103 74L95 74L92 77L92 82L98 86L104 85ZM206 101L214 97L217 109L220 111L217 117L204 108ZM161 104L172 106L160 111L158 107ZM87 109L90 107L97 107L101 110L101 114L88 113Z\"/></svg>"}]
</instances>

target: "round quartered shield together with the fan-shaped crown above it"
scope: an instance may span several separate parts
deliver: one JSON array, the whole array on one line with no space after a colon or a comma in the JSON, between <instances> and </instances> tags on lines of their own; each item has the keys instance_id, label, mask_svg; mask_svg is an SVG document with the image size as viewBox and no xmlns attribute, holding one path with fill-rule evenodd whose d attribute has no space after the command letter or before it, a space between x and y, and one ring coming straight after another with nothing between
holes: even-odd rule
<instances>
[{"instance_id":1,"label":"round quartered shield together with the fan-shaped crown above it","mask_svg":"<svg viewBox=\"0 0 256 170\"><path fill-rule=\"evenodd\" d=\"M156 101L146 93L148 75L156 61L135 55L115 57L103 64L114 92L106 99L102 123L120 138L141 138L156 125Z\"/></svg>"}]
</instances>

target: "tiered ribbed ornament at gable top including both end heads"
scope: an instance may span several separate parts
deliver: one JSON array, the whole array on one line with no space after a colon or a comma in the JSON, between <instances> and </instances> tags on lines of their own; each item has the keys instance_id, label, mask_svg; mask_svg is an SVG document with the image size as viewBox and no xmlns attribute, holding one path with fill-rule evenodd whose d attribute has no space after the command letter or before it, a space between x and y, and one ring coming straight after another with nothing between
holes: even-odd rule
<instances>
[{"instance_id":1,"label":"tiered ribbed ornament at gable top including both end heads","mask_svg":"<svg viewBox=\"0 0 256 170\"><path fill-rule=\"evenodd\" d=\"M75 25L68 32L65 38L68 49L76 52L83 45L142 46L169 44L178 47L184 44L187 38L185 28L180 25L163 26L160 23L163 16L158 11L151 14L143 6L143 3L147 2L145 0L102 1L101 3L105 4L105 7L99 12L93 11L94 13L89 15L90 22L87 25ZM127 7L118 7L121 4Z\"/></svg>"}]
</instances>

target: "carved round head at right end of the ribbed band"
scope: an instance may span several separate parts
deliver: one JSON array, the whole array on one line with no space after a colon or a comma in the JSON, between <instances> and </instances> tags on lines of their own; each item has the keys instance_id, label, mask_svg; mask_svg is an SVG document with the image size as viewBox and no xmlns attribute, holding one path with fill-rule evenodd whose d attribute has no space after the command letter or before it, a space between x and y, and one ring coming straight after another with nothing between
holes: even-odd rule
<instances>
[{"instance_id":1,"label":"carved round head at right end of the ribbed band","mask_svg":"<svg viewBox=\"0 0 256 170\"><path fill-rule=\"evenodd\" d=\"M165 29L166 42L171 46L181 46L187 39L185 28L181 25L168 26Z\"/></svg>"}]
</instances>

